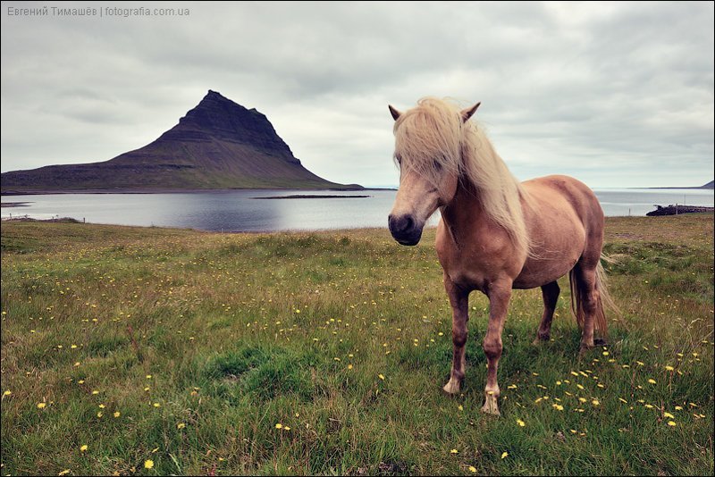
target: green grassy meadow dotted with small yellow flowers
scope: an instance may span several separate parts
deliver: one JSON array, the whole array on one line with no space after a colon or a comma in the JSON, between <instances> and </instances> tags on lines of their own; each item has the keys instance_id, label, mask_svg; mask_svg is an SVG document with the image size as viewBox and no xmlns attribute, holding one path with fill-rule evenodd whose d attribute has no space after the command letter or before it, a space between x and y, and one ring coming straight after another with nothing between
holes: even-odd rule
<instances>
[{"instance_id":1,"label":"green grassy meadow dotted with small yellow flowers","mask_svg":"<svg viewBox=\"0 0 715 477\"><path fill-rule=\"evenodd\" d=\"M713 216L610 218L610 342L515 292L467 379L433 249L387 230L2 225L2 474L711 474Z\"/></svg>"}]
</instances>

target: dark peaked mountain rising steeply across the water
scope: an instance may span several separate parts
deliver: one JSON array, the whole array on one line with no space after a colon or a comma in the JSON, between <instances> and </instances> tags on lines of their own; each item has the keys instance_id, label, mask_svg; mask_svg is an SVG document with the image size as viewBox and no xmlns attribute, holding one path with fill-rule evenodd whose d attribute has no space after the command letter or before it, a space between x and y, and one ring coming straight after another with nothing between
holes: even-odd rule
<instances>
[{"instance_id":1,"label":"dark peaked mountain rising steeply across the water","mask_svg":"<svg viewBox=\"0 0 715 477\"><path fill-rule=\"evenodd\" d=\"M215 91L154 142L103 163L4 172L2 193L216 188L360 189L308 171L256 109Z\"/></svg>"}]
</instances>

